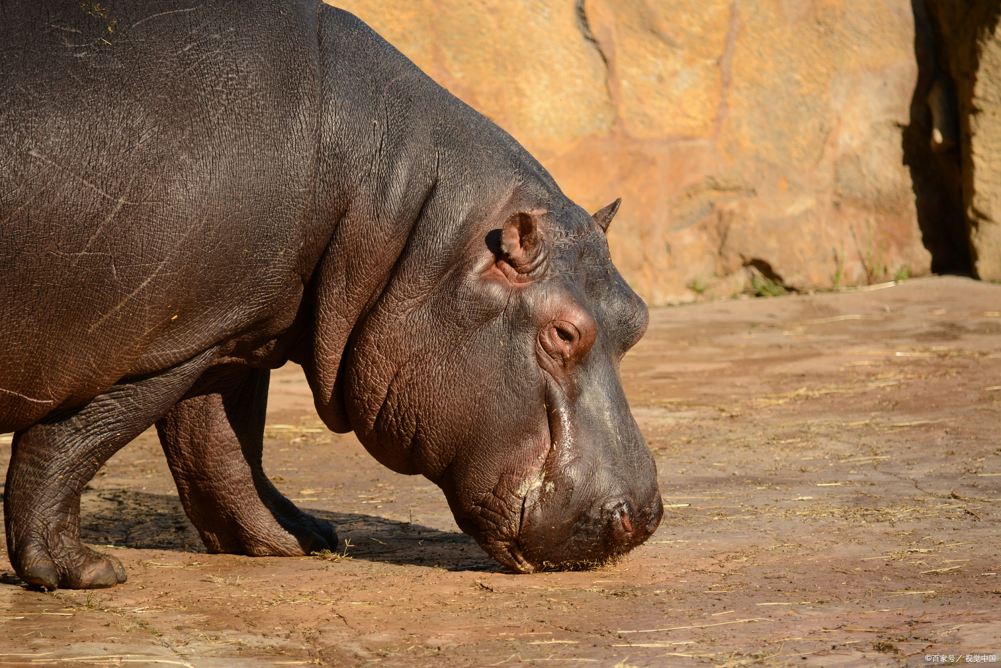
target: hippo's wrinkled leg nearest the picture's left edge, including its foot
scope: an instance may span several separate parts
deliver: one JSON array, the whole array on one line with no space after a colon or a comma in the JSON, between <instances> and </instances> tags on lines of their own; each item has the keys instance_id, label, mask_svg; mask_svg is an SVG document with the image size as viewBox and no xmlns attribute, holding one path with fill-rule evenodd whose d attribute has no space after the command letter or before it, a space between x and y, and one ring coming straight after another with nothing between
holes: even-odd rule
<instances>
[{"instance_id":1,"label":"hippo's wrinkled leg nearest the picture's left edge, including its foot","mask_svg":"<svg viewBox=\"0 0 1001 668\"><path fill-rule=\"evenodd\" d=\"M14 435L4 490L7 551L25 582L96 589L125 582L121 562L80 542L80 493L105 461L180 399L215 349L151 378L120 383Z\"/></svg>"}]
</instances>

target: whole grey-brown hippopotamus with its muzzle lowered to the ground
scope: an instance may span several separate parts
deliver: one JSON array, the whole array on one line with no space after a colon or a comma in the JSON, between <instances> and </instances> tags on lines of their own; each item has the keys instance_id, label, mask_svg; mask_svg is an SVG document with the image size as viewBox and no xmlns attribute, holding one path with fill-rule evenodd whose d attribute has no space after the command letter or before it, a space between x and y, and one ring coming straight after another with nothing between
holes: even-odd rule
<instances>
[{"instance_id":1,"label":"whole grey-brown hippopotamus with its muzzle lowered to the ground","mask_svg":"<svg viewBox=\"0 0 1001 668\"><path fill-rule=\"evenodd\" d=\"M516 572L657 529L619 364L648 310L514 138L317 0L4 2L0 432L31 585L124 582L80 494L155 425L211 553L333 528L261 466L269 370L332 431L441 488ZM539 91L545 94L545 91Z\"/></svg>"}]
</instances>

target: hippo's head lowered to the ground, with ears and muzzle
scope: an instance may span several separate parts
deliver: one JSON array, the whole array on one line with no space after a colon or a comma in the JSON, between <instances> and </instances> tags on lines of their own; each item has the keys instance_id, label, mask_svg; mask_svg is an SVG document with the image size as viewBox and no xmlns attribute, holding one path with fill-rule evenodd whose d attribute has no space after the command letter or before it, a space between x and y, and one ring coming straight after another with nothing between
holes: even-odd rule
<instances>
[{"instance_id":1,"label":"hippo's head lowered to the ground, with ears and muzzle","mask_svg":"<svg viewBox=\"0 0 1001 668\"><path fill-rule=\"evenodd\" d=\"M516 198L451 247L415 233L347 346L365 448L517 571L601 563L663 514L619 378L648 312L609 254L618 206Z\"/></svg>"}]
</instances>

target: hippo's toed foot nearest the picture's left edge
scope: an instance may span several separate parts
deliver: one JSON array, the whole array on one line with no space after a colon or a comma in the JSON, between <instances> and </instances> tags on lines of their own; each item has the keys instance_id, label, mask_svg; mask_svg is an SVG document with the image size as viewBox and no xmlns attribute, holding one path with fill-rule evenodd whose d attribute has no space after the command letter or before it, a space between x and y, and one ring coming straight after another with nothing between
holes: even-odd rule
<instances>
[{"instance_id":1,"label":"hippo's toed foot nearest the picture's left edge","mask_svg":"<svg viewBox=\"0 0 1001 668\"><path fill-rule=\"evenodd\" d=\"M104 589L125 582L125 567L116 557L99 554L83 545L60 545L53 555L41 545L21 550L12 560L18 576L29 585L46 590Z\"/></svg>"}]
</instances>

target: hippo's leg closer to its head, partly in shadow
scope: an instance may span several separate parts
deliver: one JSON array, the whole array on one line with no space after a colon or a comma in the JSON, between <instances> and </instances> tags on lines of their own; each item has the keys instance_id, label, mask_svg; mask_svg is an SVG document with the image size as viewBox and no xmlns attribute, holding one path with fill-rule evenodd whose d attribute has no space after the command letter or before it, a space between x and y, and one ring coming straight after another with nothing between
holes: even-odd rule
<instances>
[{"instance_id":1,"label":"hippo's leg closer to its head, partly in shadow","mask_svg":"<svg viewBox=\"0 0 1001 668\"><path fill-rule=\"evenodd\" d=\"M156 424L181 503L209 552L297 556L337 536L278 492L261 467L267 370L205 374Z\"/></svg>"}]
</instances>

